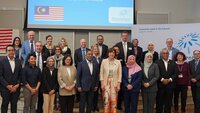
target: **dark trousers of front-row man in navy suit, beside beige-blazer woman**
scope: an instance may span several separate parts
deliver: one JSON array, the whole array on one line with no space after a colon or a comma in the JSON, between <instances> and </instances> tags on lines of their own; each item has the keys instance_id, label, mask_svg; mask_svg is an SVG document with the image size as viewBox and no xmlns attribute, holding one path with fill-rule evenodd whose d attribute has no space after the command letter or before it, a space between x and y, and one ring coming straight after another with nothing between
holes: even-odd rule
<instances>
[{"instance_id":1,"label":"dark trousers of front-row man in navy suit, beside beige-blazer woman","mask_svg":"<svg viewBox=\"0 0 200 113\"><path fill-rule=\"evenodd\" d=\"M93 97L94 97L93 91L80 92L79 113L91 113L93 107Z\"/></svg>"}]
</instances>

